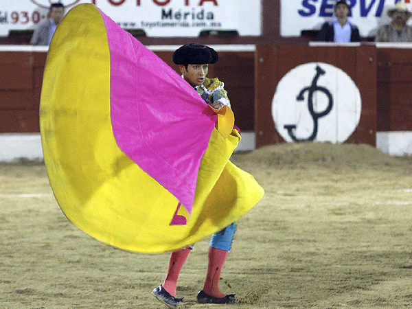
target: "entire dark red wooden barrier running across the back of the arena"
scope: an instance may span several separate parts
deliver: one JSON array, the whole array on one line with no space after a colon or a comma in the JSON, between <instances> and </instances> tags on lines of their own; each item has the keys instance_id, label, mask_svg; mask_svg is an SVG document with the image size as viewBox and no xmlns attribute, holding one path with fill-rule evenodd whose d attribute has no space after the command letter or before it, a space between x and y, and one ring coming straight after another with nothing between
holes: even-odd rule
<instances>
[{"instance_id":1,"label":"entire dark red wooden barrier running across the back of the arena","mask_svg":"<svg viewBox=\"0 0 412 309\"><path fill-rule=\"evenodd\" d=\"M168 65L178 46L152 50ZM236 125L254 130L256 147L282 142L271 116L279 80L307 62L325 62L345 71L361 91L361 120L350 143L375 146L376 131L412 131L412 45L219 45L210 77L225 82ZM47 47L0 46L0 133L38 133Z\"/></svg>"}]
</instances>

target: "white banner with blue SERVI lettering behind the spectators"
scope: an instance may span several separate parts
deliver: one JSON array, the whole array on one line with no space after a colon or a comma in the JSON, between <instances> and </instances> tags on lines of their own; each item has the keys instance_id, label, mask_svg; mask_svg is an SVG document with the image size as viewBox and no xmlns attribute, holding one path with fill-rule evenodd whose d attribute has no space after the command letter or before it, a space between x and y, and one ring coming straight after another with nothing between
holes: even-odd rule
<instances>
[{"instance_id":1,"label":"white banner with blue SERVI lettering behind the spectators","mask_svg":"<svg viewBox=\"0 0 412 309\"><path fill-rule=\"evenodd\" d=\"M358 26L361 36L375 36L380 25L390 23L387 10L397 0L347 0L349 20ZM405 0L411 10L411 0ZM300 36L301 30L319 30L333 17L336 0L281 0L281 36ZM410 20L409 23L412 21Z\"/></svg>"}]
</instances>

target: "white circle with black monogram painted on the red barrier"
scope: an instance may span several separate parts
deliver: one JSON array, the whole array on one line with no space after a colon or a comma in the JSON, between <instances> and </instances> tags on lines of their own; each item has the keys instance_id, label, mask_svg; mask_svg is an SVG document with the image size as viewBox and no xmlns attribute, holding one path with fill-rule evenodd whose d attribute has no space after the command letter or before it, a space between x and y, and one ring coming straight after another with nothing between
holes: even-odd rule
<instances>
[{"instance_id":1,"label":"white circle with black monogram painted on the red barrier","mask_svg":"<svg viewBox=\"0 0 412 309\"><path fill-rule=\"evenodd\" d=\"M286 141L343 143L361 118L361 93L341 69L310 62L290 70L279 81L272 117Z\"/></svg>"}]
</instances>

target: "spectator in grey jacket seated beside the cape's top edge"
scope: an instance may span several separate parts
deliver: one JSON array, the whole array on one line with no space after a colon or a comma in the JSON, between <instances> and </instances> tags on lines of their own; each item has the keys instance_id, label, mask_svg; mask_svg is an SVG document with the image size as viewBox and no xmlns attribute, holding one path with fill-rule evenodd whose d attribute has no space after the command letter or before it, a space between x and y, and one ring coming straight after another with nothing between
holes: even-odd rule
<instances>
[{"instance_id":1,"label":"spectator in grey jacket seated beside the cape's top edge","mask_svg":"<svg viewBox=\"0 0 412 309\"><path fill-rule=\"evenodd\" d=\"M58 24L65 16L65 5L62 3L52 3L47 16L49 17L47 21L38 25L36 30L34 30L30 44L50 45Z\"/></svg>"}]
</instances>

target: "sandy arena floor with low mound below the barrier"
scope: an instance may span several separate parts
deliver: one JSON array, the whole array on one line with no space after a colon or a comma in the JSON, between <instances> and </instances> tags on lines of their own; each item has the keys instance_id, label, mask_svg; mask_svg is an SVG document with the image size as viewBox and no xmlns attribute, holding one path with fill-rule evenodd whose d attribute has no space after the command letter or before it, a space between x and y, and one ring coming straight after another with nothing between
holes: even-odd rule
<instances>
[{"instance_id":1,"label":"sandy arena floor with low mound below the barrier","mask_svg":"<svg viewBox=\"0 0 412 309\"><path fill-rule=\"evenodd\" d=\"M220 288L196 304L209 239L181 277L179 308L412 307L412 158L365 145L279 144L236 153L265 196L238 220ZM60 211L41 164L0 164L0 308L166 308L150 292L169 254L108 247Z\"/></svg>"}]
</instances>

